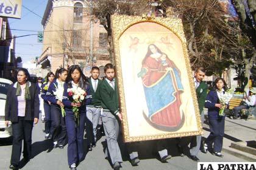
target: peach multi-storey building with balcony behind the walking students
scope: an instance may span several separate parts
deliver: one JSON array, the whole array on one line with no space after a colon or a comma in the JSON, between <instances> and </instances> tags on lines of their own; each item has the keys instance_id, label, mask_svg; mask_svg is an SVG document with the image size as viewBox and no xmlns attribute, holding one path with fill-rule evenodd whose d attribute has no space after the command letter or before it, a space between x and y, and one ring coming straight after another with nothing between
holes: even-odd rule
<instances>
[{"instance_id":1,"label":"peach multi-storey building with balcony behind the walking students","mask_svg":"<svg viewBox=\"0 0 256 170\"><path fill-rule=\"evenodd\" d=\"M91 15L91 5L82 0L49 0L44 16L43 51L38 60L37 76L49 70L79 64L89 75L92 66L110 62L107 32Z\"/></svg>"}]
</instances>

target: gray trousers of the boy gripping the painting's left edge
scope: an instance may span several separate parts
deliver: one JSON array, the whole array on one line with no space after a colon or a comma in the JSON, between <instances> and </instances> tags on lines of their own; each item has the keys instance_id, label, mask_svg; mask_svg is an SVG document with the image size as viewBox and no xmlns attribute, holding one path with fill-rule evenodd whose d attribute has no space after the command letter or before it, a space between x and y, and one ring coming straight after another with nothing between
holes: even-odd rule
<instances>
[{"instance_id":1,"label":"gray trousers of the boy gripping the painting's left edge","mask_svg":"<svg viewBox=\"0 0 256 170\"><path fill-rule=\"evenodd\" d=\"M123 162L121 151L118 145L118 120L111 112L104 111L102 114L102 123L107 141L105 156L108 156L108 154L110 155L112 164L114 164L116 161L119 163Z\"/></svg>"}]
</instances>

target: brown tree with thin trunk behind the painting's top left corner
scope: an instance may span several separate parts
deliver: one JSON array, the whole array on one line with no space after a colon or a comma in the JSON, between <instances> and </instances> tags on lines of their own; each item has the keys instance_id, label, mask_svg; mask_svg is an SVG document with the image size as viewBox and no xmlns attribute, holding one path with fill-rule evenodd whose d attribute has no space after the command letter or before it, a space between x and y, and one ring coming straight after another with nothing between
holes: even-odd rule
<instances>
[{"instance_id":1,"label":"brown tree with thin trunk behind the painting's top left corner","mask_svg":"<svg viewBox=\"0 0 256 170\"><path fill-rule=\"evenodd\" d=\"M113 14L120 15L141 15L148 9L148 0L98 0L93 1L93 15L99 19L101 24L107 30L107 41L110 46L110 60L111 63L114 61L114 50L112 41L112 29L110 16Z\"/></svg>"}]
</instances>

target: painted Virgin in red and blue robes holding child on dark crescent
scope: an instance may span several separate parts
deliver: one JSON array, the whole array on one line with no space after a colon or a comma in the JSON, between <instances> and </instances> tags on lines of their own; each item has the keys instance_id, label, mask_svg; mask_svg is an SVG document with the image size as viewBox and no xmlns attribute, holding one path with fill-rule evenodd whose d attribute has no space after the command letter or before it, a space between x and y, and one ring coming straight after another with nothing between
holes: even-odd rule
<instances>
[{"instance_id":1,"label":"painted Virgin in red and blue robes holding child on dark crescent","mask_svg":"<svg viewBox=\"0 0 256 170\"><path fill-rule=\"evenodd\" d=\"M143 111L143 115L148 123L161 131L180 129L185 121L180 109L180 70L155 44L148 46L138 77L143 82L148 107L148 114Z\"/></svg>"}]
</instances>

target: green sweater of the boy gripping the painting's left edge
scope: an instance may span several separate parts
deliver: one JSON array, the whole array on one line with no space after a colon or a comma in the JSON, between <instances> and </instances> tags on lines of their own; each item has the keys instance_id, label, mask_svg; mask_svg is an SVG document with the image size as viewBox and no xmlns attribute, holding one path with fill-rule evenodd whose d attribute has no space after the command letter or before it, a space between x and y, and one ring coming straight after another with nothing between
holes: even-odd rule
<instances>
[{"instance_id":1,"label":"green sweater of the boy gripping the painting's left edge","mask_svg":"<svg viewBox=\"0 0 256 170\"><path fill-rule=\"evenodd\" d=\"M110 111L113 115L119 112L118 86L115 80L115 90L104 79L99 86L99 97L104 110Z\"/></svg>"}]
</instances>

